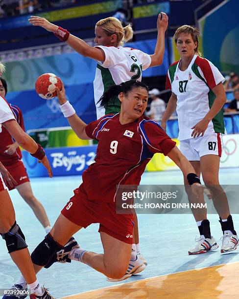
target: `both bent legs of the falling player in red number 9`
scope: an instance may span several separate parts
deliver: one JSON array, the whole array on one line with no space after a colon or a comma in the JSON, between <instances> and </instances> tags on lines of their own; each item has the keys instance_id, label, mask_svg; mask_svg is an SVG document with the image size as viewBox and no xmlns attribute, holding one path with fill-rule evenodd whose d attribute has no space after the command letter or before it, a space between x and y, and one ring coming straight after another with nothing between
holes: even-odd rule
<instances>
[{"instance_id":1,"label":"both bent legs of the falling player in red number 9","mask_svg":"<svg viewBox=\"0 0 239 299\"><path fill-rule=\"evenodd\" d=\"M57 248L59 247L58 245L63 248L69 238L80 229L80 226L74 224L72 221L60 214L52 230L48 234L48 238L45 238L45 240L37 246L31 255L36 273L44 266L44 261L48 259L48 256L51 256L52 252L50 251L53 247L55 250L53 251L54 254L57 250L59 250L59 248ZM71 251L69 258L84 262L106 276L116 279L122 278L129 265L132 245L119 241L118 239L102 232L100 235L104 254L96 254L81 248L76 248ZM46 243L48 245L47 247L45 245ZM48 255L47 258L46 255ZM139 259L137 258L137 265L133 265L132 267L137 269L142 263L143 262L139 262ZM129 276L131 275L132 274ZM20 278L20 280L21 279L22 278Z\"/></svg>"}]
</instances>

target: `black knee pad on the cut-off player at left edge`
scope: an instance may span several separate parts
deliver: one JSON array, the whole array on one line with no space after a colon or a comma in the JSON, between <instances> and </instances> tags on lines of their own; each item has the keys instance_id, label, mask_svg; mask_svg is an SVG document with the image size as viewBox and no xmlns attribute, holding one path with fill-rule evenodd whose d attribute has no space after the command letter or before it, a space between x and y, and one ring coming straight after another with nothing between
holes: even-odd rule
<instances>
[{"instance_id":1,"label":"black knee pad on the cut-off player at left edge","mask_svg":"<svg viewBox=\"0 0 239 299\"><path fill-rule=\"evenodd\" d=\"M11 229L6 234L1 234L1 236L6 241L8 253L27 247L25 236L16 221Z\"/></svg>"}]
</instances>

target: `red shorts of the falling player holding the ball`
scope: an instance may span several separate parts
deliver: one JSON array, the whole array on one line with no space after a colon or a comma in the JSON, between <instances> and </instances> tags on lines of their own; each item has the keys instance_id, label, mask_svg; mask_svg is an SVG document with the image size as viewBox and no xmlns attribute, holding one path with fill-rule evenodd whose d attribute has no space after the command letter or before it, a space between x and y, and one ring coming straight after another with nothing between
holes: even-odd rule
<instances>
[{"instance_id":1,"label":"red shorts of the falling player holding the ball","mask_svg":"<svg viewBox=\"0 0 239 299\"><path fill-rule=\"evenodd\" d=\"M87 228L92 223L99 223L98 232L132 244L133 214L116 214L115 202L90 200L83 185L74 190L74 196L61 211L73 223Z\"/></svg>"}]
</instances>

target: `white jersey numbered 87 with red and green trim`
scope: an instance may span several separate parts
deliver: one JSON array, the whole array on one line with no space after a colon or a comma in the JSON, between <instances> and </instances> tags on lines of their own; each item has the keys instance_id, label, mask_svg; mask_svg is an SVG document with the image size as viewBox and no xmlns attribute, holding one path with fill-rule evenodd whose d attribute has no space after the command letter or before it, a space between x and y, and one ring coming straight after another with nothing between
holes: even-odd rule
<instances>
[{"instance_id":1,"label":"white jersey numbered 87 with red and green trim","mask_svg":"<svg viewBox=\"0 0 239 299\"><path fill-rule=\"evenodd\" d=\"M192 138L191 129L212 107L215 94L212 89L225 79L207 59L194 55L185 71L179 69L180 61L171 64L167 72L166 88L177 96L179 140ZM209 122L204 135L225 133L223 110Z\"/></svg>"}]
</instances>

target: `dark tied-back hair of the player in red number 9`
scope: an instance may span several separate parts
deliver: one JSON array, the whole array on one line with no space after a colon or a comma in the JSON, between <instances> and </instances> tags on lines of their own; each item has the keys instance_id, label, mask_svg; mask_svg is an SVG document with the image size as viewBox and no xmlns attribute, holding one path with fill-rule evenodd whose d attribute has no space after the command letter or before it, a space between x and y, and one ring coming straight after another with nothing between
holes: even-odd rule
<instances>
[{"instance_id":1,"label":"dark tied-back hair of the player in red number 9","mask_svg":"<svg viewBox=\"0 0 239 299\"><path fill-rule=\"evenodd\" d=\"M120 85L113 85L109 87L109 89L101 96L97 104L100 103L100 107L114 105L115 98L120 94L120 92L126 94L134 87L143 87L148 91L148 86L144 83L137 80L129 80L121 83Z\"/></svg>"}]
</instances>

